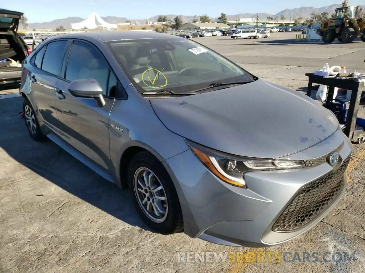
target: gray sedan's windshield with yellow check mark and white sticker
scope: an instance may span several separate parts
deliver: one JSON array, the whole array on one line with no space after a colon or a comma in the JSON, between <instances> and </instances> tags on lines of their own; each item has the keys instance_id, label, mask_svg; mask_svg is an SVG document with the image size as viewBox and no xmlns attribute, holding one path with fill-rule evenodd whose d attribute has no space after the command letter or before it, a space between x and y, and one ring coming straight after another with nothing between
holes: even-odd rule
<instances>
[{"instance_id":1,"label":"gray sedan's windshield with yellow check mark and white sticker","mask_svg":"<svg viewBox=\"0 0 365 273\"><path fill-rule=\"evenodd\" d=\"M140 93L187 93L212 83L256 79L223 56L188 39L119 40L107 44Z\"/></svg>"}]
</instances>

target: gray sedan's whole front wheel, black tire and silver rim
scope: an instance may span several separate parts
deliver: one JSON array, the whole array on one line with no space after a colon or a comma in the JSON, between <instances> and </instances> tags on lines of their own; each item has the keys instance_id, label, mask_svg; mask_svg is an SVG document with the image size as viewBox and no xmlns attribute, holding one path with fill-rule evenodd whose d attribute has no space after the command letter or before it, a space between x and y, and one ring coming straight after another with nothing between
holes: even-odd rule
<instances>
[{"instance_id":1,"label":"gray sedan's whole front wheel, black tire and silver rim","mask_svg":"<svg viewBox=\"0 0 365 273\"><path fill-rule=\"evenodd\" d=\"M128 169L132 199L143 221L162 234L183 229L180 201L161 162L148 151L141 151L132 158Z\"/></svg>"}]
</instances>

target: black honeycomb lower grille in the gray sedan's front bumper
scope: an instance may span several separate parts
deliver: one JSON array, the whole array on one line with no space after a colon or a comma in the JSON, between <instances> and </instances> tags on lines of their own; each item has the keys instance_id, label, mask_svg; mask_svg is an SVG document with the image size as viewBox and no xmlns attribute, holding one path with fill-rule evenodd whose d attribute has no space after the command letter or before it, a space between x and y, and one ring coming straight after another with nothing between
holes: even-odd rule
<instances>
[{"instance_id":1,"label":"black honeycomb lower grille in the gray sedan's front bumper","mask_svg":"<svg viewBox=\"0 0 365 273\"><path fill-rule=\"evenodd\" d=\"M339 169L304 186L274 223L273 231L288 232L299 229L327 209L344 186L342 177L349 161L347 159Z\"/></svg>"}]
</instances>

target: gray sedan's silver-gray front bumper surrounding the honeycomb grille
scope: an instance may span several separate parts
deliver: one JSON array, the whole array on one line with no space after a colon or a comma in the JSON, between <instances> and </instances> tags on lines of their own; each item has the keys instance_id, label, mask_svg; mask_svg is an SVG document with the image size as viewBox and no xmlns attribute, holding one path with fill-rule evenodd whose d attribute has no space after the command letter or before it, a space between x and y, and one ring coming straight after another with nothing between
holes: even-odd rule
<instances>
[{"instance_id":1,"label":"gray sedan's silver-gray front bumper surrounding the honeycomb grille","mask_svg":"<svg viewBox=\"0 0 365 273\"><path fill-rule=\"evenodd\" d=\"M243 189L215 177L190 150L168 159L166 163L173 172L175 185L178 185L185 233L216 244L249 247L277 245L303 234L319 222L345 193L347 181L342 163L346 164L349 159L352 144L338 130L318 145L286 157L315 159L338 147L341 147L340 159L335 168L341 169L342 166L343 169L338 175L341 187L315 217L292 230L274 231L273 227L304 188L334 171L327 162L297 170L246 173L247 188ZM324 189L331 185L331 181L328 182L322 185ZM304 198L312 197L304 195Z\"/></svg>"}]
</instances>

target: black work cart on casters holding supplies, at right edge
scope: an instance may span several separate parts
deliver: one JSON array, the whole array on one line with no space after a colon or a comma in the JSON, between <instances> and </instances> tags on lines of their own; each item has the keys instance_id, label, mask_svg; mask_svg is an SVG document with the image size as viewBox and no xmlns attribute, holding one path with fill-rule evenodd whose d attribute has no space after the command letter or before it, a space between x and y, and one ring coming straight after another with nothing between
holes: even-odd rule
<instances>
[{"instance_id":1,"label":"black work cart on casters holding supplies, at right edge","mask_svg":"<svg viewBox=\"0 0 365 273\"><path fill-rule=\"evenodd\" d=\"M334 88L342 88L351 90L351 100L349 110L347 112L346 125L343 132L351 141L357 141L359 144L365 143L365 131L355 130L357 112L359 109L360 98L364 91L364 82L359 82L354 79L339 79L339 78L324 78L323 76L315 75L314 73L306 73L308 76L307 96L311 96L312 84L323 84L328 86L327 100L333 99Z\"/></svg>"}]
</instances>

